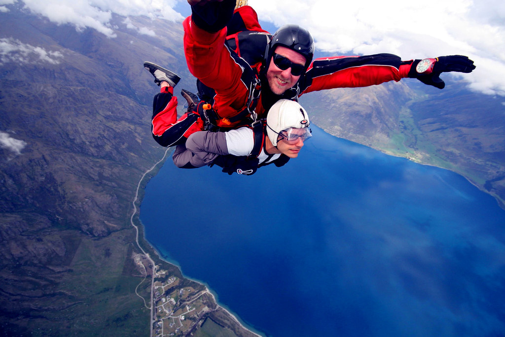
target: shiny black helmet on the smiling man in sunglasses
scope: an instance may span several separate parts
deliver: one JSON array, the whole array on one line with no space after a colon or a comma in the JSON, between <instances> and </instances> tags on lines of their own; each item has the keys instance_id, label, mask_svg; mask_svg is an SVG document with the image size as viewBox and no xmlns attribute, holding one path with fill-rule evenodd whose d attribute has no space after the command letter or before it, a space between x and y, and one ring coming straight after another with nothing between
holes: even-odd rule
<instances>
[{"instance_id":1,"label":"shiny black helmet on the smiling man in sunglasses","mask_svg":"<svg viewBox=\"0 0 505 337\"><path fill-rule=\"evenodd\" d=\"M267 70L272 60L274 50L278 45L282 45L304 55L307 59L305 70L309 68L312 58L314 57L315 47L314 38L307 29L301 28L298 25L284 25L277 29L274 35L272 35L270 42L267 44L267 49L265 49L265 67Z\"/></svg>"}]
</instances>

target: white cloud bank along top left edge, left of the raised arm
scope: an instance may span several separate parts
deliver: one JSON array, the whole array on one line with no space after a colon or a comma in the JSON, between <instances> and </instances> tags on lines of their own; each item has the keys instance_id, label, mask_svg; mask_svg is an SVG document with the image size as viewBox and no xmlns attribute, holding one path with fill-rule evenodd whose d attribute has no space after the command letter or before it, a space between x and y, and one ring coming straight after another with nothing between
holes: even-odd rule
<instances>
[{"instance_id":1,"label":"white cloud bank along top left edge, left of the raised arm","mask_svg":"<svg viewBox=\"0 0 505 337\"><path fill-rule=\"evenodd\" d=\"M126 17L145 15L170 21L183 19L173 10L176 0L23 0L23 3L31 12L57 24L72 24L78 31L95 29L111 38L116 37L115 27L111 24L113 13ZM141 34L152 34L151 30L135 27L131 22L129 28Z\"/></svg>"}]
</instances>

